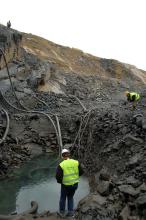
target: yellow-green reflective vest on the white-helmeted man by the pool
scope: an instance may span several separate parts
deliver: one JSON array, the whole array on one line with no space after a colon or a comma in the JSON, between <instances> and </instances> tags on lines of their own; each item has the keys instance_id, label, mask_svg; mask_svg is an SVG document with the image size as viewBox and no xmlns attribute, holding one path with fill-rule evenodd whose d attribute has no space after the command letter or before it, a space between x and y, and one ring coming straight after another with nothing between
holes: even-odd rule
<instances>
[{"instance_id":1,"label":"yellow-green reflective vest on the white-helmeted man by the pool","mask_svg":"<svg viewBox=\"0 0 146 220\"><path fill-rule=\"evenodd\" d=\"M64 185L74 185L79 182L79 162L77 160L68 159L60 163L63 170Z\"/></svg>"}]
</instances>

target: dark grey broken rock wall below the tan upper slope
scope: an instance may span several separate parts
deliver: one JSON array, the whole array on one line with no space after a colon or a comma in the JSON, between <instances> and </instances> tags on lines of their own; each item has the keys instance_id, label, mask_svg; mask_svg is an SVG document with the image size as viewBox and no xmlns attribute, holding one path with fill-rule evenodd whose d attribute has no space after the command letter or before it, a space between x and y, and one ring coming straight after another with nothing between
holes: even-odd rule
<instances>
[{"instance_id":1,"label":"dark grey broken rock wall below the tan upper slope","mask_svg":"<svg viewBox=\"0 0 146 220\"><path fill-rule=\"evenodd\" d=\"M4 48L4 40L1 45L6 49L9 63L17 67L19 61L14 62L17 57L13 56L13 52L17 46L20 49L21 37L17 33L20 37L17 44L13 34L15 31L4 28L2 36L7 36L7 49ZM23 52L22 57L28 69L24 75L22 72L19 75L17 70L13 76L16 94L12 92L11 86L0 94L1 108L8 112L10 119L9 132L0 145L0 177L9 178L13 167L33 156L59 152L59 142L51 122L53 120L57 126L57 116L63 146L68 147L72 156L82 162L85 174L89 177L91 192L79 202L75 219L145 220L145 90L142 90L142 100L134 111L121 98L120 91L125 87L119 83L117 88L115 81L110 78L104 84L99 76L77 76L72 71L60 73L57 70L57 74L60 73L59 80L50 72L45 80L57 82L62 92L38 91L38 84L46 83L42 83L40 73L48 71L50 64L41 62L27 51ZM19 51L17 55L19 57ZM1 68L3 66L1 59ZM65 79L65 83L60 79ZM115 101L116 98L118 101ZM1 137L6 130L6 119L1 111ZM39 219L35 215L37 217ZM44 218L47 218L47 214L44 214ZM27 219L27 216L23 216L23 219Z\"/></svg>"}]
</instances>

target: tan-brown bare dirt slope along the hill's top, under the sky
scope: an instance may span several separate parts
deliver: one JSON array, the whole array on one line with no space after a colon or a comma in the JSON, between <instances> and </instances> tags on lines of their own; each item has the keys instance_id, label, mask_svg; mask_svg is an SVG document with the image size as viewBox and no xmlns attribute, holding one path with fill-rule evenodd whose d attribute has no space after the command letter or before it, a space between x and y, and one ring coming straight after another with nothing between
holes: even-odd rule
<instances>
[{"instance_id":1,"label":"tan-brown bare dirt slope along the hill's top, under the sky","mask_svg":"<svg viewBox=\"0 0 146 220\"><path fill-rule=\"evenodd\" d=\"M97 74L125 81L128 77L133 77L135 81L146 82L145 72L138 70L135 66L117 60L95 57L79 49L57 45L38 36L23 34L22 47L40 59L56 63L67 72L73 71L83 75Z\"/></svg>"}]
</instances>

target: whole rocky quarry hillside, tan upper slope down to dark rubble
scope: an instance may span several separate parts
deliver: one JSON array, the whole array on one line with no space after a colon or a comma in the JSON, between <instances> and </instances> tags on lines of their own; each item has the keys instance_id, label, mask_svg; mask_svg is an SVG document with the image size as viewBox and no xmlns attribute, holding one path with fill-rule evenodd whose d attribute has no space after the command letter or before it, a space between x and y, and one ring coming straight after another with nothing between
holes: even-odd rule
<instances>
[{"instance_id":1,"label":"whole rocky quarry hillside, tan upper slope down to dark rubble","mask_svg":"<svg viewBox=\"0 0 146 220\"><path fill-rule=\"evenodd\" d=\"M63 146L84 165L91 194L76 219L145 219L146 134L142 70L0 26L0 177ZM21 49L20 49L21 45ZM14 50L16 54L14 55ZM134 111L123 92L137 88ZM5 109L10 116L7 126Z\"/></svg>"}]
</instances>

